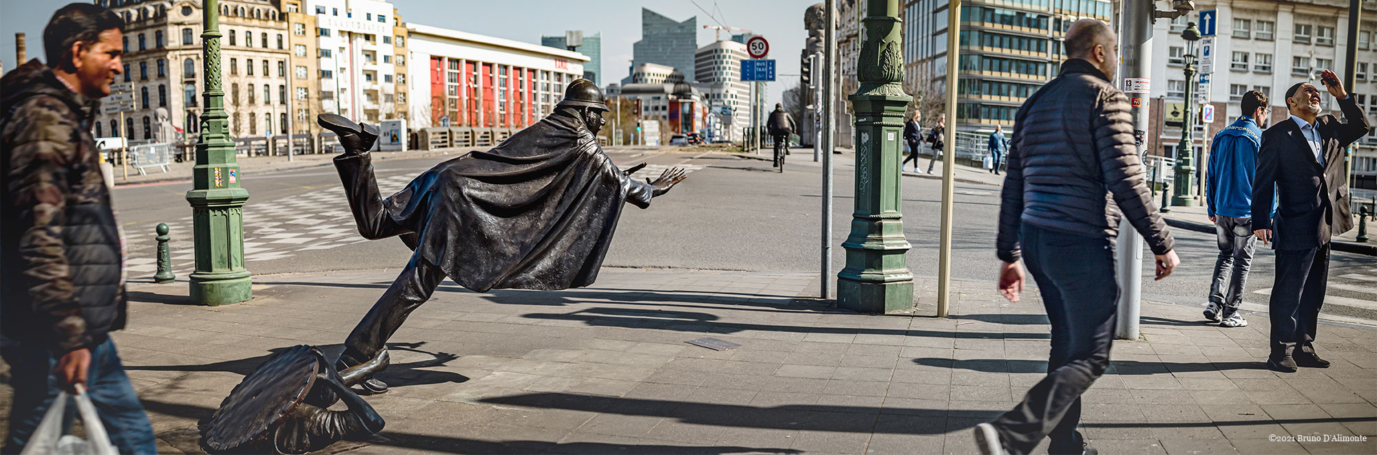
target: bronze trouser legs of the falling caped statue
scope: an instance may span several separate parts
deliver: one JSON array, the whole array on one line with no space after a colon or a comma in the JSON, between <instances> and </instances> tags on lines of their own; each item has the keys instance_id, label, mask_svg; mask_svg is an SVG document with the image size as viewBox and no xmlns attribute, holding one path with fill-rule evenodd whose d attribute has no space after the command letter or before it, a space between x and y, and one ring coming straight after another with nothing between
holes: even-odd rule
<instances>
[{"instance_id":1,"label":"bronze trouser legs of the falling caped statue","mask_svg":"<svg viewBox=\"0 0 1377 455\"><path fill-rule=\"evenodd\" d=\"M344 195L348 199L350 210L354 212L359 234L369 239L402 235L408 246L414 249L416 234L397 225L387 216L387 202L377 190L377 179L373 176L369 155L340 155L335 158L335 169L339 170L340 181L344 183ZM383 297L373 304L373 308L364 315L364 319L344 340L344 353L340 355L340 360L347 366L355 366L372 359L383 349L387 338L391 338L397 329L406 322L406 316L430 300L443 279L445 272L438 265L427 261L420 252L412 253L402 274L392 280L392 285L383 291Z\"/></svg>"}]
</instances>

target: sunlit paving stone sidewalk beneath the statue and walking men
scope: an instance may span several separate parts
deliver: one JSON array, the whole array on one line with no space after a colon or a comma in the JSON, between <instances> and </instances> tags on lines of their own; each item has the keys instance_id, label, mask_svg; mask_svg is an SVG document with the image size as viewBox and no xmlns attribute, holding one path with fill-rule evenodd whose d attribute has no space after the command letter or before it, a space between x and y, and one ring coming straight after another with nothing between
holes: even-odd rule
<instances>
[{"instance_id":1,"label":"sunlit paving stone sidewalk beneath the statue and walking men","mask_svg":"<svg viewBox=\"0 0 1377 455\"><path fill-rule=\"evenodd\" d=\"M273 349L336 355L397 269L256 276L255 300L186 305L186 283L131 287L114 335L160 448L200 452L196 425ZM1045 373L1036 291L997 298L957 282L935 319L935 280L913 315L856 315L812 298L814 274L602 271L567 291L472 293L445 282L391 338L387 419L358 454L974 454L971 428ZM1263 368L1267 319L1208 326L1147 302L1143 337L1118 341L1084 396L1103 454L1377 452L1377 331L1321 327L1327 370ZM741 344L712 351L697 338ZM6 377L8 367L0 374ZM0 415L12 390L0 388ZM1294 434L1367 436L1293 443ZM1275 436L1275 437L1274 437ZM1045 452L1044 447L1038 448Z\"/></svg>"}]
</instances>

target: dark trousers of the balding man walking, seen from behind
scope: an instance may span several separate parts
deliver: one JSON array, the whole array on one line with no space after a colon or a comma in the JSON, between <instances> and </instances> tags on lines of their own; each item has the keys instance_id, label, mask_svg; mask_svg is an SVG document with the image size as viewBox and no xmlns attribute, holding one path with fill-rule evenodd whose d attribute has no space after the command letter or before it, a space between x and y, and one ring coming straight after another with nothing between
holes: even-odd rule
<instances>
[{"instance_id":1,"label":"dark trousers of the balding man walking, seen from behind","mask_svg":"<svg viewBox=\"0 0 1377 455\"><path fill-rule=\"evenodd\" d=\"M1110 364L1118 311L1114 245L1023 224L1023 264L1037 282L1052 323L1047 378L993 422L1009 454L1027 454L1051 437L1051 454L1080 454L1081 393Z\"/></svg>"}]
</instances>

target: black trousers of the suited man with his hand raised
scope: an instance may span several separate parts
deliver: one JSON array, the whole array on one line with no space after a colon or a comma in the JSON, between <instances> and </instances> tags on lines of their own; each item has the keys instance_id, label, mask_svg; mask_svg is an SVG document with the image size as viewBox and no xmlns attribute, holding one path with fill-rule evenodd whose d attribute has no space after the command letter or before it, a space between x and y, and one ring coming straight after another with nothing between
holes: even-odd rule
<instances>
[{"instance_id":1,"label":"black trousers of the suited man with his hand raised","mask_svg":"<svg viewBox=\"0 0 1377 455\"><path fill-rule=\"evenodd\" d=\"M1329 243L1276 250L1276 280L1267 312L1272 320L1272 359L1315 352L1315 326L1329 285Z\"/></svg>"}]
</instances>

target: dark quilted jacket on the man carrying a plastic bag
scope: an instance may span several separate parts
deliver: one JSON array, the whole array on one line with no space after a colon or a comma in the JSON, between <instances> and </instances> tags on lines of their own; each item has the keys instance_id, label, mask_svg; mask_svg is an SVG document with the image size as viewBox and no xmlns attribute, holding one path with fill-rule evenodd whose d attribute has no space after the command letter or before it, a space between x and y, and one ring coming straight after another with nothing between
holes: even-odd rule
<instances>
[{"instance_id":1,"label":"dark quilted jacket on the man carrying a plastic bag","mask_svg":"<svg viewBox=\"0 0 1377 455\"><path fill-rule=\"evenodd\" d=\"M99 104L30 60L0 80L0 330L58 352L124 327L123 253Z\"/></svg>"}]
</instances>

